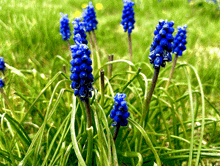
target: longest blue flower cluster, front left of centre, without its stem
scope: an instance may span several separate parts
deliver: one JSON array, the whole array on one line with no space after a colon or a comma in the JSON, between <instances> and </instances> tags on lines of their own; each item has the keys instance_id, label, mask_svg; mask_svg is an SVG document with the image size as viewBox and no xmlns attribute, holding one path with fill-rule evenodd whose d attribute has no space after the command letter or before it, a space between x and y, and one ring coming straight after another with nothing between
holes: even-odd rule
<instances>
[{"instance_id":1,"label":"longest blue flower cluster, front left of centre, without its stem","mask_svg":"<svg viewBox=\"0 0 220 166\"><path fill-rule=\"evenodd\" d=\"M76 45L70 47L73 58L70 62L72 66L70 79L73 81L71 87L75 90L75 95L84 101L85 98L92 96L91 91L93 90L91 51L87 45L82 44L82 38L79 34L75 35L75 42Z\"/></svg>"}]
</instances>

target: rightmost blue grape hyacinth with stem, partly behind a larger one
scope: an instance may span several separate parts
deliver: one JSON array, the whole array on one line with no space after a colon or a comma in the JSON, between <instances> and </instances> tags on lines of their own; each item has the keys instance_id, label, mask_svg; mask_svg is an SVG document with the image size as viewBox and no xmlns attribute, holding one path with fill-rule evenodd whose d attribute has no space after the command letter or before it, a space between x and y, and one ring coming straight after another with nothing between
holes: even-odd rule
<instances>
[{"instance_id":1,"label":"rightmost blue grape hyacinth with stem, partly behind a larger one","mask_svg":"<svg viewBox=\"0 0 220 166\"><path fill-rule=\"evenodd\" d=\"M170 81L173 77L173 73L174 73L174 69L175 69L175 66L176 66L176 62L177 62L177 58L178 56L182 56L183 55L183 51L186 50L186 28L187 28L187 25L184 25L183 27L181 26L178 26L177 27L177 34L174 38L174 41L173 41L173 53L175 53L175 58L174 58L174 61L173 61L173 66L172 66L172 69L171 69L171 72L170 72L170 76L169 76L169 79L167 81L167 84L166 84L166 87L165 87L165 90L168 89L169 87L169 84L170 84Z\"/></svg>"}]
</instances>

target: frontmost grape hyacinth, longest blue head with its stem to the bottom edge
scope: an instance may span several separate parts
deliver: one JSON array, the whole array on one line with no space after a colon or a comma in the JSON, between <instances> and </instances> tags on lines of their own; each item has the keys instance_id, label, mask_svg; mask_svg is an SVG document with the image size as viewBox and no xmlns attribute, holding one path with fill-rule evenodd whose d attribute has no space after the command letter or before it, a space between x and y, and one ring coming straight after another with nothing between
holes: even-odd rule
<instances>
[{"instance_id":1,"label":"frontmost grape hyacinth, longest blue head with its stem to the bottom edge","mask_svg":"<svg viewBox=\"0 0 220 166\"><path fill-rule=\"evenodd\" d=\"M80 100L85 104L86 117L87 117L87 129L88 130L88 148L86 165L91 165L92 162L92 150L93 150L93 132L92 132L92 113L89 104L89 97L92 97L94 78L92 75L92 60L90 59L91 51L86 44L82 43L80 34L75 35L76 45L72 45L72 60L71 64L71 76L73 81L71 88L75 90L75 96L79 96Z\"/></svg>"}]
</instances>

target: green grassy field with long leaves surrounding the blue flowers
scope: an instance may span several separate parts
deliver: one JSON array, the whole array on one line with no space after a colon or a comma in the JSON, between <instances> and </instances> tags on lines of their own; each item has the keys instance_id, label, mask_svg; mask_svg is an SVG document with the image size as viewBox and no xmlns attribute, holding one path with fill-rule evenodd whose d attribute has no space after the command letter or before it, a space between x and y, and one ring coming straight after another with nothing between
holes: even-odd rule
<instances>
[{"instance_id":1,"label":"green grassy field with long leaves surrounding the blue flowers","mask_svg":"<svg viewBox=\"0 0 220 166\"><path fill-rule=\"evenodd\" d=\"M118 0L92 2L103 4L103 9L96 11L99 22L96 37L101 65L107 71L107 55L114 54L114 60L129 60L127 33L120 26L123 3ZM187 0L134 2L134 66L130 74L134 80L127 80L127 61L114 62L113 77L106 77L105 103L102 104L99 70L97 66L94 68L97 90L91 100L95 126L93 164L153 165L158 160L152 149L164 165L220 162L218 6L196 0L191 3ZM0 57L7 63L5 76L0 76L4 78L4 91L11 105L9 107L1 96L0 164L78 165L80 162L83 165L86 160L89 133L86 117L82 103L74 97L72 101L70 52L59 34L60 12L68 14L73 21L74 13L82 12L85 3L88 1L0 1ZM178 58L168 91L164 87L172 63L161 69L146 126L142 128L138 123L153 76L148 55L159 19L173 20L175 28L188 25L187 50ZM72 37L70 43L74 44ZM64 64L66 74L60 72ZM136 75L138 67L142 70ZM131 117L128 128L121 129L114 146L109 112L113 96L122 91L128 96ZM143 141L138 139L140 135Z\"/></svg>"}]
</instances>

